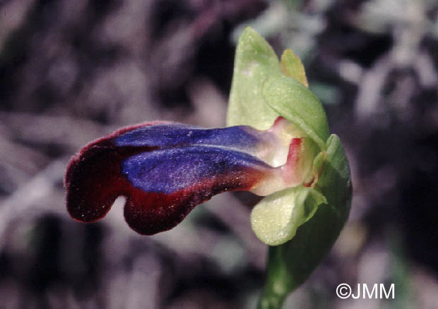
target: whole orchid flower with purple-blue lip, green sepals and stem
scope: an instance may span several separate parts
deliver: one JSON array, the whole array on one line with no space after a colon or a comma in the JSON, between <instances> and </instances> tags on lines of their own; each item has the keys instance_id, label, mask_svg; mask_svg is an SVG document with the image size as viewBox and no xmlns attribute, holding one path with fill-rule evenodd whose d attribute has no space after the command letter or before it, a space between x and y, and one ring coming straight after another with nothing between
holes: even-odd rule
<instances>
[{"instance_id":1,"label":"whole orchid flower with purple-blue lip, green sepals and stem","mask_svg":"<svg viewBox=\"0 0 438 309\"><path fill-rule=\"evenodd\" d=\"M95 222L119 195L132 229L172 229L225 191L264 196L251 227L269 245L259 308L280 308L338 238L350 212L350 169L304 66L280 61L251 28L239 39L227 128L155 121L122 128L83 147L66 171L67 209Z\"/></svg>"}]
</instances>

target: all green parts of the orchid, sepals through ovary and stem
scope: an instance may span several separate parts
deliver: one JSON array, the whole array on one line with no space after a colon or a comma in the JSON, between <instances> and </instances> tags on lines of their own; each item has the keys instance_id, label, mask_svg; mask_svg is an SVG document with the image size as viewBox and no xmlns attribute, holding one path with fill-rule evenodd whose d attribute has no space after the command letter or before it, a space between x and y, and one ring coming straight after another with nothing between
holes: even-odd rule
<instances>
[{"instance_id":1,"label":"all green parts of the orchid, sepals through ovary and stem","mask_svg":"<svg viewBox=\"0 0 438 309\"><path fill-rule=\"evenodd\" d=\"M300 59L288 49L281 61L251 28L239 39L227 126L265 130L278 116L292 123L307 146L312 175L302 185L263 198L251 226L269 246L267 276L259 309L279 309L329 253L350 212L348 160L336 135L329 135L324 108L307 89ZM310 183L310 185L309 185Z\"/></svg>"}]
</instances>

